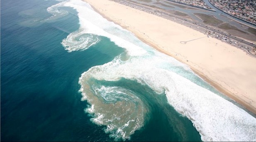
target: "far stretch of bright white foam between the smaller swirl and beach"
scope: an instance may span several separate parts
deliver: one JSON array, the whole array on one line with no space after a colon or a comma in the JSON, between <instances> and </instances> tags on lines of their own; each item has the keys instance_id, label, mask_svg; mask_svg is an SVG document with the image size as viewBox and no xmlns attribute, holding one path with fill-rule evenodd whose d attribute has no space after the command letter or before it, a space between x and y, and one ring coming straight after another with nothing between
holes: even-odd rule
<instances>
[{"instance_id":1,"label":"far stretch of bright white foam between the smaller swirl and beach","mask_svg":"<svg viewBox=\"0 0 256 142\"><path fill-rule=\"evenodd\" d=\"M77 10L81 31L83 30L88 34L108 37L111 41L114 41L117 46L126 49L129 55L143 55L146 53L141 47L133 42L129 42L130 36L133 34L117 26L114 22L103 19L102 16L96 13L87 3L81 2L81 0L71 0L65 2L64 5Z\"/></svg>"}]
</instances>

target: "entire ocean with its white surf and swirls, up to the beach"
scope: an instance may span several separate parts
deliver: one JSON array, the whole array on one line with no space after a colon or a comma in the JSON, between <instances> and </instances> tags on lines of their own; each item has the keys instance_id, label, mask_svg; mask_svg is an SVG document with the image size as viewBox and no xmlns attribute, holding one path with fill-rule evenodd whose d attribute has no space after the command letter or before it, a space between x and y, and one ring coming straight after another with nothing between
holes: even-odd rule
<instances>
[{"instance_id":1,"label":"entire ocean with its white surf and swirls, up to the beach","mask_svg":"<svg viewBox=\"0 0 256 142\"><path fill-rule=\"evenodd\" d=\"M2 141L256 141L256 118L81 0L1 2Z\"/></svg>"}]
</instances>

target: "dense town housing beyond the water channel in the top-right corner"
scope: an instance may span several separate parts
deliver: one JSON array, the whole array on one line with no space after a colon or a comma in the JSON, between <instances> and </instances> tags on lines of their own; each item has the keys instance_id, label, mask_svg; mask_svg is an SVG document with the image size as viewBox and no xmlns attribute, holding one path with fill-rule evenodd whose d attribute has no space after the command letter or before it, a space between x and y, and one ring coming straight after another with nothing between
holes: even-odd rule
<instances>
[{"instance_id":1,"label":"dense town housing beyond the water channel in the top-right corner","mask_svg":"<svg viewBox=\"0 0 256 142\"><path fill-rule=\"evenodd\" d=\"M255 0L210 0L210 2L228 14L256 24Z\"/></svg>"}]
</instances>

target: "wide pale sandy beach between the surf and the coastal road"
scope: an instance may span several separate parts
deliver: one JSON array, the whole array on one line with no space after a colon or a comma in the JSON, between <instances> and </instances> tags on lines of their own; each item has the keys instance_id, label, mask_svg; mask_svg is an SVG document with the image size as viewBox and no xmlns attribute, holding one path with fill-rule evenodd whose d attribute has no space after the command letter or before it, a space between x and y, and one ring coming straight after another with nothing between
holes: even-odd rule
<instances>
[{"instance_id":1,"label":"wide pale sandy beach between the surf and the coastal road","mask_svg":"<svg viewBox=\"0 0 256 142\"><path fill-rule=\"evenodd\" d=\"M256 114L255 58L168 19L110 0L85 1L158 51L189 65L205 81ZM181 44L180 41L190 42Z\"/></svg>"}]
</instances>

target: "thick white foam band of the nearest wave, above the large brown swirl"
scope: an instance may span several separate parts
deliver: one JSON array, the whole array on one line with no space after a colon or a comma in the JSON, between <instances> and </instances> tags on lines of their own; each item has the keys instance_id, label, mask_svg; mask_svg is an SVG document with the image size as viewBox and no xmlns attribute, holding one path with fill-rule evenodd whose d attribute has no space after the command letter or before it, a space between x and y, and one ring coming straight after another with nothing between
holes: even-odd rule
<instances>
[{"instance_id":1,"label":"thick white foam band of the nearest wave, above the large brown swirl","mask_svg":"<svg viewBox=\"0 0 256 142\"><path fill-rule=\"evenodd\" d=\"M147 59L128 61L116 59L105 65L92 67L84 75L107 81L115 81L123 77L147 84L159 94L165 92L168 102L193 122L203 141L256 140L254 117L190 80L155 67L161 63L161 59L154 59L151 62ZM84 82L86 80L81 80L82 86Z\"/></svg>"}]
</instances>

